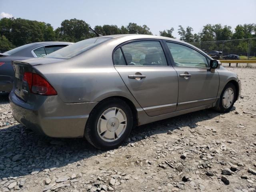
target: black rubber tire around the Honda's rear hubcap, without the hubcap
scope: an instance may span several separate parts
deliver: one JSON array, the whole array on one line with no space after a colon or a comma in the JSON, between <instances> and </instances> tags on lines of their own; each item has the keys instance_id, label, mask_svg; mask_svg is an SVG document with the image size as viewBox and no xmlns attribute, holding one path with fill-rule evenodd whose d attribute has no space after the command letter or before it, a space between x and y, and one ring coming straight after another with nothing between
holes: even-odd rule
<instances>
[{"instance_id":1,"label":"black rubber tire around the Honda's rear hubcap, without the hubcap","mask_svg":"<svg viewBox=\"0 0 256 192\"><path fill-rule=\"evenodd\" d=\"M106 142L102 140L102 138L100 138L97 131L97 124L102 113L108 108L112 108L112 107L118 107L122 109L123 112L126 114L126 118L127 118L126 130L124 131L122 136L117 140L113 142ZM109 150L109 149L117 148L118 146L120 146L120 144L128 138L132 130L132 127L133 127L132 110L130 109L128 104L126 104L124 100L121 100L118 98L109 98L97 104L95 108L92 110L92 112L90 113L89 118L86 122L84 136L86 140L90 144L92 144L94 147L100 150Z\"/></svg>"}]
</instances>

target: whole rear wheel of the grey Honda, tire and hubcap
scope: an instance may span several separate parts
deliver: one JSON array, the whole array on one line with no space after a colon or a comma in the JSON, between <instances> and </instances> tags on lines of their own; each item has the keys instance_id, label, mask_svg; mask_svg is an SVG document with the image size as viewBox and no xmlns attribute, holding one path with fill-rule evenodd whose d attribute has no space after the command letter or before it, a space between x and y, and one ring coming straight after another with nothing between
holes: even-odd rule
<instances>
[{"instance_id":1,"label":"whole rear wheel of the grey Honda, tire and hubcap","mask_svg":"<svg viewBox=\"0 0 256 192\"><path fill-rule=\"evenodd\" d=\"M132 130L133 116L128 104L118 98L100 102L91 112L84 136L101 150L120 146Z\"/></svg>"}]
</instances>

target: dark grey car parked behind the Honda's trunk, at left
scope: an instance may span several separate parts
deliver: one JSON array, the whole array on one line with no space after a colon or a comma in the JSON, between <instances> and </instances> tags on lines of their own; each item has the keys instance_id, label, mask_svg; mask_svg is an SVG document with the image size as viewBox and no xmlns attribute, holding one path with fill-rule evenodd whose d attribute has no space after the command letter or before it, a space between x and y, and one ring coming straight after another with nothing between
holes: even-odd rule
<instances>
[{"instance_id":1,"label":"dark grey car parked behind the Honda's trunk, at left","mask_svg":"<svg viewBox=\"0 0 256 192\"><path fill-rule=\"evenodd\" d=\"M37 42L26 44L10 51L0 53L0 91L11 91L14 71L12 60L25 60L46 56L56 50L66 47L71 42Z\"/></svg>"}]
</instances>

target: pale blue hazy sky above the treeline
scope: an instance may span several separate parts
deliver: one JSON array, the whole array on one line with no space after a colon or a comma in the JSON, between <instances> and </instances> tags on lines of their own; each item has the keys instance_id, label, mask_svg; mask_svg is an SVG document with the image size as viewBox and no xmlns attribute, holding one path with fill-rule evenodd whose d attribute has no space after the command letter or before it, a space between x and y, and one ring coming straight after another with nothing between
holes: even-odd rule
<instances>
[{"instance_id":1,"label":"pale blue hazy sky above the treeline","mask_svg":"<svg viewBox=\"0 0 256 192\"><path fill-rule=\"evenodd\" d=\"M206 24L232 27L256 23L256 0L0 0L0 18L15 17L50 23L54 29L65 19L81 19L90 26L129 22L146 24L154 35L178 26L194 33Z\"/></svg>"}]
</instances>

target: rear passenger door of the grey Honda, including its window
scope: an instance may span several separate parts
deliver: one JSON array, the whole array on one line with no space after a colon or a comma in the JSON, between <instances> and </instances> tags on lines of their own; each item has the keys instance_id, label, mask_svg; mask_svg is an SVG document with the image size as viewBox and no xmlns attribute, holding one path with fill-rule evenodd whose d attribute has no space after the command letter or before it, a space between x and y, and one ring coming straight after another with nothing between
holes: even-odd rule
<instances>
[{"instance_id":1,"label":"rear passenger door of the grey Honda, including its window","mask_svg":"<svg viewBox=\"0 0 256 192\"><path fill-rule=\"evenodd\" d=\"M114 65L122 80L149 116L174 112L178 76L166 60L161 40L135 40L114 50Z\"/></svg>"}]
</instances>

